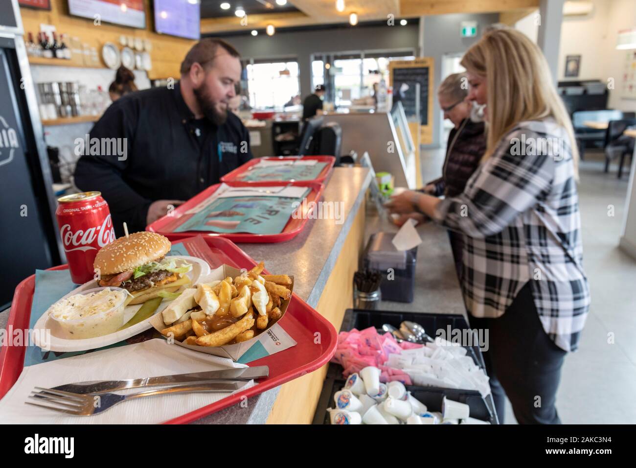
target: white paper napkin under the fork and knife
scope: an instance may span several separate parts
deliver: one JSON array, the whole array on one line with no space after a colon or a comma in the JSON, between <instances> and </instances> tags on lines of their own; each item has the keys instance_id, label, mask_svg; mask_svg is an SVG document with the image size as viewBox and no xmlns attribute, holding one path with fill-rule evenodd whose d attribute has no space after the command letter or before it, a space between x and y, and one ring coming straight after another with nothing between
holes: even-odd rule
<instances>
[{"instance_id":1,"label":"white paper napkin under the fork and knife","mask_svg":"<svg viewBox=\"0 0 636 468\"><path fill-rule=\"evenodd\" d=\"M95 416L71 416L25 404L36 386L51 388L86 380L158 377L186 372L248 367L228 358L167 344L163 339L128 344L80 356L25 367L11 390L0 400L0 422L13 424L156 424L185 415L231 395L227 393L174 394L125 401ZM241 389L254 385L249 381ZM132 388L117 392L143 392Z\"/></svg>"}]
</instances>

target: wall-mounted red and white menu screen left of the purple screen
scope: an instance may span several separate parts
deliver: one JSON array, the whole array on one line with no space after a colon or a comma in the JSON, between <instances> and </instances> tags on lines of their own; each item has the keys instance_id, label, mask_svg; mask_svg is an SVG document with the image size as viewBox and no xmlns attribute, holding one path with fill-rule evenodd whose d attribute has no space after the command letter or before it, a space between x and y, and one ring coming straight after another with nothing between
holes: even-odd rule
<instances>
[{"instance_id":1,"label":"wall-mounted red and white menu screen left of the purple screen","mask_svg":"<svg viewBox=\"0 0 636 468\"><path fill-rule=\"evenodd\" d=\"M69 0L69 13L122 26L146 27L144 0Z\"/></svg>"}]
</instances>

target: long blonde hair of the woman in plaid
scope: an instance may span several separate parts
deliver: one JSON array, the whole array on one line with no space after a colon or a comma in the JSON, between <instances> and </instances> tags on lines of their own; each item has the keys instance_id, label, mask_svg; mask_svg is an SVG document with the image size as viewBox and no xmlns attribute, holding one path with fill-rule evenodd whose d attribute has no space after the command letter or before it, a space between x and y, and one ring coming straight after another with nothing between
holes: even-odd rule
<instances>
[{"instance_id":1,"label":"long blonde hair of the woman in plaid","mask_svg":"<svg viewBox=\"0 0 636 468\"><path fill-rule=\"evenodd\" d=\"M572 122L556 93L548 62L535 43L515 29L495 29L469 48L461 64L469 73L486 77L488 134L482 161L519 122L553 117L567 132L578 173Z\"/></svg>"}]
</instances>

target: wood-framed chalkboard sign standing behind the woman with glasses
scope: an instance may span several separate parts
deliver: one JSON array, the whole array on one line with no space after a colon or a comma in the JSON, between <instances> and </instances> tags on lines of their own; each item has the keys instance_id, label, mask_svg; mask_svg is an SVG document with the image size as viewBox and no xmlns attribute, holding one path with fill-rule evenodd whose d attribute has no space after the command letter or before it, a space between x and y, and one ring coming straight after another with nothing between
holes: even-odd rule
<instances>
[{"instance_id":1,"label":"wood-framed chalkboard sign standing behind the woman with glasses","mask_svg":"<svg viewBox=\"0 0 636 468\"><path fill-rule=\"evenodd\" d=\"M427 135L432 134L433 63L430 57L389 62L393 103L401 101L406 118L409 122L417 122L420 125L425 140L428 139ZM419 115L416 115L418 101L420 109Z\"/></svg>"}]
</instances>

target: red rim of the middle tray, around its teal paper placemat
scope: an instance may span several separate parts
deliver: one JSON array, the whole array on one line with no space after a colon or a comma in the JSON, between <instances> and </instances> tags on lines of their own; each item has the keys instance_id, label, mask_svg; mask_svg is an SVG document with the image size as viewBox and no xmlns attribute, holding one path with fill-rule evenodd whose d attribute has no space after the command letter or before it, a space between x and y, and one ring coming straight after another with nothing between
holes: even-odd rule
<instances>
[{"instance_id":1,"label":"red rim of the middle tray, around its teal paper placemat","mask_svg":"<svg viewBox=\"0 0 636 468\"><path fill-rule=\"evenodd\" d=\"M227 182L228 185L232 187L248 187L249 185L244 182ZM186 201L183 205L177 207L170 213L170 216L163 216L163 218L159 218L154 223L146 226L146 230L151 232L158 232L162 234L162 236L167 237L171 241L177 241L179 239L191 238L192 236L203 236L203 238L208 241L211 238L223 237L230 239L233 242L245 242L245 243L272 243L272 242L283 242L289 241L289 239L293 239L294 237L300 234L301 230L304 229L305 224L307 224L307 220L310 218L312 211L315 209L315 204L312 204L312 201L319 201L322 190L324 189L324 185L319 182L314 181L297 181L297 182L283 182L283 183L268 183L267 185L277 186L277 185L295 185L298 187L311 187L312 191L307 195L307 206L305 204L301 204L298 209L306 209L306 212L303 213L303 216L299 218L289 217L289 221L285 225L285 228L280 232L280 234L249 234L247 232L235 232L235 233L223 233L223 232L205 232L205 231L186 231L186 232L170 232L173 229L176 229L177 226L181 225L181 218L183 216L187 216L190 218L191 215L185 215L184 213L188 211L188 209L197 206L200 202L204 201L207 197L212 195L217 188L219 188L221 184L217 183L215 185L211 185L206 188L203 192L190 200ZM254 187L251 185L251 187Z\"/></svg>"}]
</instances>

